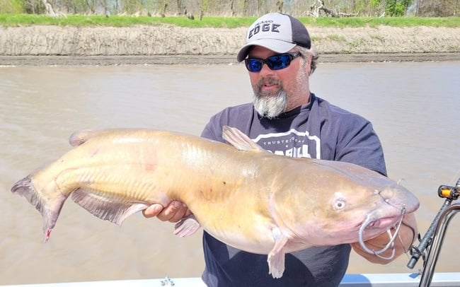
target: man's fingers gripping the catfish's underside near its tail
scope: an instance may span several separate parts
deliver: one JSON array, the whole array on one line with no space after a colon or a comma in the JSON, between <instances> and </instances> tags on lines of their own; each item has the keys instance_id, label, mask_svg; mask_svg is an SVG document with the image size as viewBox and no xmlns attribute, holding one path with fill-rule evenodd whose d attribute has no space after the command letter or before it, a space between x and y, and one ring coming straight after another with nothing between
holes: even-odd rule
<instances>
[{"instance_id":1,"label":"man's fingers gripping the catfish's underside near its tail","mask_svg":"<svg viewBox=\"0 0 460 287\"><path fill-rule=\"evenodd\" d=\"M163 208L161 204L152 204L142 211L146 218L157 217L161 221L178 222L185 216L192 214L190 209L180 201L171 201Z\"/></svg>"}]
</instances>

